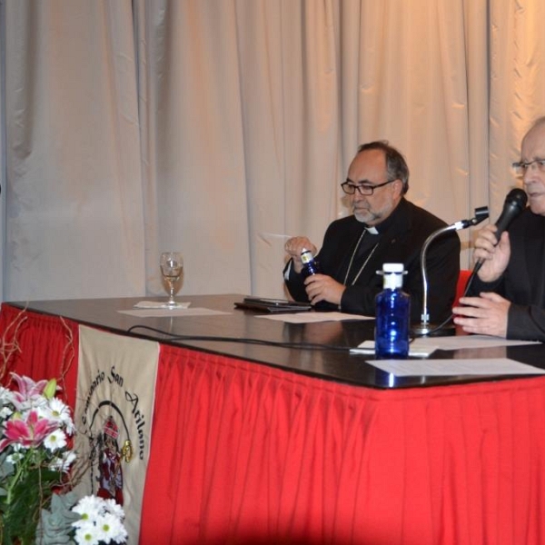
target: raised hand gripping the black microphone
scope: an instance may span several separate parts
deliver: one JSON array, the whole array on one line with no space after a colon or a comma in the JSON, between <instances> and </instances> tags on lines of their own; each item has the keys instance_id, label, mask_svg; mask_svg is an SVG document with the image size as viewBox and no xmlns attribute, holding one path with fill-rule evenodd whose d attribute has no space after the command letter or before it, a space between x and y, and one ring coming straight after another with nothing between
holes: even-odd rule
<instances>
[{"instance_id":1,"label":"raised hand gripping the black microphone","mask_svg":"<svg viewBox=\"0 0 545 545\"><path fill-rule=\"evenodd\" d=\"M501 233L500 242L496 239L496 225L483 227L475 239L473 260L482 263L477 273L482 282L494 282L507 268L510 258L509 233Z\"/></svg>"}]
</instances>

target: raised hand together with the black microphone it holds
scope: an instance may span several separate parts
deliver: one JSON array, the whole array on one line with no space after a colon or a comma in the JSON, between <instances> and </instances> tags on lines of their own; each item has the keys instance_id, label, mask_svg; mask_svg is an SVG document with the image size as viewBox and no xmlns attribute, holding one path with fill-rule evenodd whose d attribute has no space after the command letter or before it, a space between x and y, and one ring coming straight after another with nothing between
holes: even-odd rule
<instances>
[{"instance_id":1,"label":"raised hand together with the black microphone it holds","mask_svg":"<svg viewBox=\"0 0 545 545\"><path fill-rule=\"evenodd\" d=\"M473 275L486 265L479 275L483 282L493 282L505 271L510 259L510 243L505 238L501 240L501 234L507 231L510 223L522 213L527 202L528 197L523 190L512 189L505 198L503 210L495 226L484 227L475 240Z\"/></svg>"}]
</instances>

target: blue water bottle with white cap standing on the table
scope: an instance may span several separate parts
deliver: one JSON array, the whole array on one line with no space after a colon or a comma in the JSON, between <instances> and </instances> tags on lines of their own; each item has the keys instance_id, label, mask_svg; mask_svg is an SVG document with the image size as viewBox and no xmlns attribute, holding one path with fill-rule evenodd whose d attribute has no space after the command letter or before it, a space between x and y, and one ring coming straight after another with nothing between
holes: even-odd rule
<instances>
[{"instance_id":1,"label":"blue water bottle with white cap standing on the table","mask_svg":"<svg viewBox=\"0 0 545 545\"><path fill-rule=\"evenodd\" d=\"M411 297L401 290L402 263L384 263L384 289L375 298L375 357L401 359L409 356Z\"/></svg>"}]
</instances>

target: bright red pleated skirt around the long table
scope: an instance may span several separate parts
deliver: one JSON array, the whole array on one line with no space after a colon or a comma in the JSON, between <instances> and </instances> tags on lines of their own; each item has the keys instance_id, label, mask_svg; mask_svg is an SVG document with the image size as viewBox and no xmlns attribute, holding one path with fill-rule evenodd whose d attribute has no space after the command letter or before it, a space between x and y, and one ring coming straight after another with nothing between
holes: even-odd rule
<instances>
[{"instance_id":1,"label":"bright red pleated skirt around the long table","mask_svg":"<svg viewBox=\"0 0 545 545\"><path fill-rule=\"evenodd\" d=\"M26 312L18 343L35 379L75 351L74 403L77 324ZM545 378L377 391L161 347L143 544L538 544L543 490Z\"/></svg>"}]
</instances>

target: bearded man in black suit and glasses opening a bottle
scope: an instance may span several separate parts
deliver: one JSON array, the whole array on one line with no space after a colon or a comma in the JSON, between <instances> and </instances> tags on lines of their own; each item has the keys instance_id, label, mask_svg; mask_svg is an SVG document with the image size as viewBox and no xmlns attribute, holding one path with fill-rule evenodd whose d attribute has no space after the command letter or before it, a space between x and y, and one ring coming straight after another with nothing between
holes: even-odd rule
<instances>
[{"instance_id":1,"label":"bearded man in black suit and glasses opening a bottle","mask_svg":"<svg viewBox=\"0 0 545 545\"><path fill-rule=\"evenodd\" d=\"M363 144L352 160L347 180L352 215L330 224L316 255L321 274L302 277L303 249L316 253L305 236L285 243L291 257L284 269L286 286L295 301L317 309L374 315L375 296L382 290L382 263L403 263L403 290L411 294L411 322L421 321L421 247L433 232L446 226L433 214L407 201L409 168L387 142ZM428 310L434 322L451 315L460 272L460 239L441 236L427 252Z\"/></svg>"}]
</instances>

